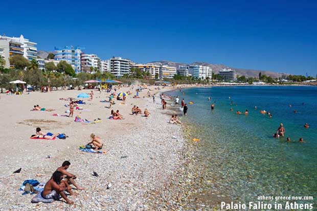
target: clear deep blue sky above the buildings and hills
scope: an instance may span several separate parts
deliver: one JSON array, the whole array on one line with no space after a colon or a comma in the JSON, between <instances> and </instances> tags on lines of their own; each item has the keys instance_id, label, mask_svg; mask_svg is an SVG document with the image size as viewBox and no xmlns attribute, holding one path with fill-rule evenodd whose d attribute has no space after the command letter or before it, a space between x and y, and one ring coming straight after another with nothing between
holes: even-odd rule
<instances>
[{"instance_id":1,"label":"clear deep blue sky above the buildings and hills","mask_svg":"<svg viewBox=\"0 0 317 211\"><path fill-rule=\"evenodd\" d=\"M38 50L317 74L317 1L11 2L1 3L0 34Z\"/></svg>"}]
</instances>

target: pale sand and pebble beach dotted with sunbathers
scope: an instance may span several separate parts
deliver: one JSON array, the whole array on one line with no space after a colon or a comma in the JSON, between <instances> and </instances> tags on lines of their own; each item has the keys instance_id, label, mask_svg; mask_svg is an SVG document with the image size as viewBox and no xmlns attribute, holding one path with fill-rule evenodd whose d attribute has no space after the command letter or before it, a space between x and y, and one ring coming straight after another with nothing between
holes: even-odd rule
<instances>
[{"instance_id":1,"label":"pale sand and pebble beach dotted with sunbathers","mask_svg":"<svg viewBox=\"0 0 317 211\"><path fill-rule=\"evenodd\" d=\"M126 91L123 87L118 91ZM158 90L154 86L151 95ZM90 90L59 90L49 93L31 92L30 95L2 95L0 122L1 139L1 182L0 210L146 210L151 209L145 202L144 193L162 189L168 178L180 165L180 155L185 139L182 128L168 124L172 111L163 110L161 100L156 94L156 103L147 97L148 89L140 92L139 99L127 97L126 105L121 101L111 109L120 110L124 120L110 120L109 103L100 100L108 99L106 92L95 91L93 101L84 99L84 110L75 110L75 115L93 121L100 118L101 123L76 123L74 118L53 116L53 113L67 114L64 104L69 101L59 98L76 97L81 92ZM171 89L165 87L160 91ZM143 98L145 97L145 98ZM53 108L55 111L30 111L34 105ZM131 115L132 105L138 105L151 113L149 118L143 115ZM81 106L81 105L80 105ZM36 127L44 132L65 133L66 139L30 139ZM90 133L95 133L103 140L105 154L81 152L80 145L85 145ZM174 138L172 138L174 136ZM51 158L46 158L51 155ZM61 201L50 204L32 204L35 195L22 195L19 187L27 179L47 182L52 173L69 160L69 172L78 176L77 183L85 188L75 191L79 196L70 196L74 205ZM13 171L22 168L18 174ZM92 174L97 172L99 177ZM106 186L111 183L110 189Z\"/></svg>"}]
</instances>

